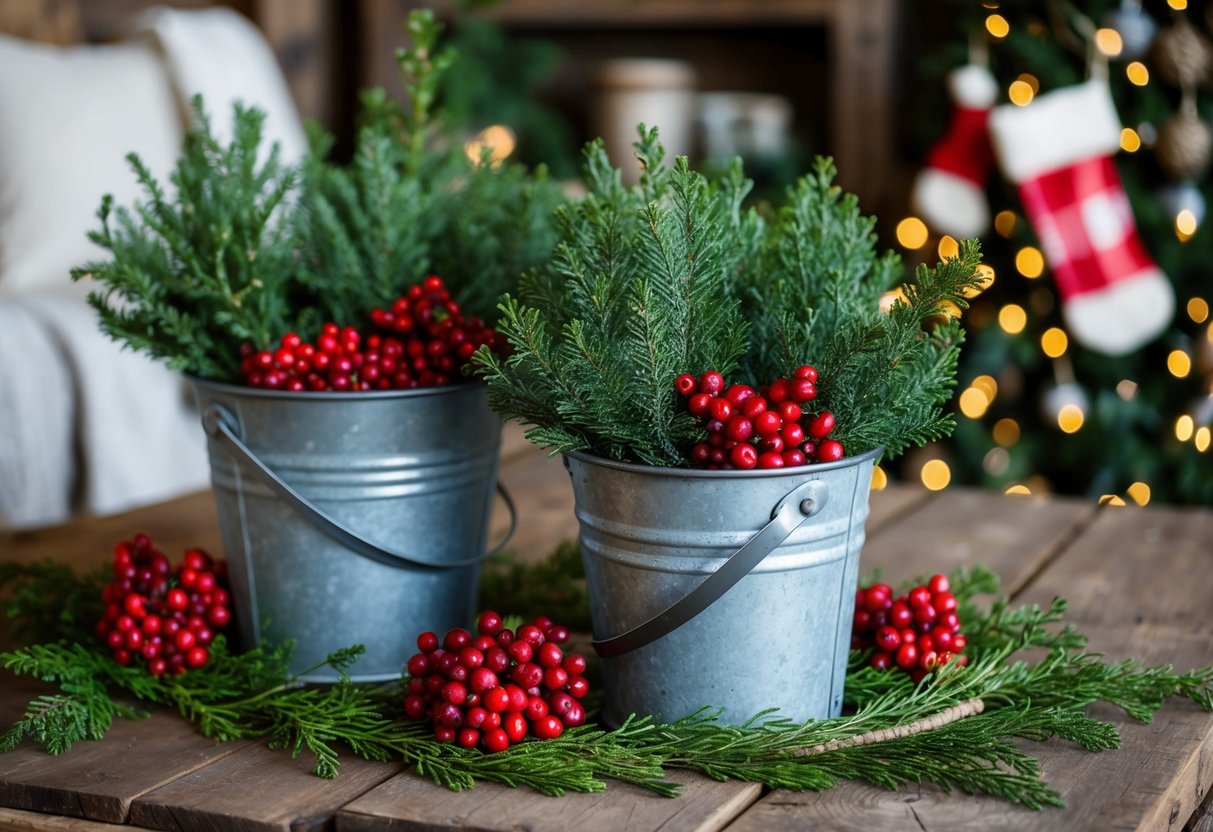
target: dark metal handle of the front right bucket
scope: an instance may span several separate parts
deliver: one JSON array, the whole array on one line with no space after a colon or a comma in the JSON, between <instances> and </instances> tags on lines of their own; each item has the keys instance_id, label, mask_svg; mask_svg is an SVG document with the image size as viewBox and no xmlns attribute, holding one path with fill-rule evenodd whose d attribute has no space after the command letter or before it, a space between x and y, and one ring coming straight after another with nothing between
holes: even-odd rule
<instances>
[{"instance_id":1,"label":"dark metal handle of the front right bucket","mask_svg":"<svg viewBox=\"0 0 1213 832\"><path fill-rule=\"evenodd\" d=\"M684 623L712 605L731 589L738 581L750 574L763 558L774 552L805 520L825 508L830 497L826 484L819 479L802 483L788 491L770 513L770 523L764 525L745 546L729 555L721 566L699 586L667 606L648 621L611 638L591 642L594 651L604 659L621 656L656 642L662 636L678 629Z\"/></svg>"}]
</instances>

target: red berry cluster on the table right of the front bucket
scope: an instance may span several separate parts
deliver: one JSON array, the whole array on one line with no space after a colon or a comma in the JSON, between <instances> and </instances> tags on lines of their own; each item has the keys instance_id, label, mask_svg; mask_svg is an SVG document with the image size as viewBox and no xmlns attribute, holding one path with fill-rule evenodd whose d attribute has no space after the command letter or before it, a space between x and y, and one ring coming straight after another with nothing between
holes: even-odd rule
<instances>
[{"instance_id":1,"label":"red berry cluster on the table right of the front bucket","mask_svg":"<svg viewBox=\"0 0 1213 832\"><path fill-rule=\"evenodd\" d=\"M871 663L877 669L899 667L918 682L950 661L968 663L968 656L959 655L967 644L956 615L956 595L944 575L934 575L926 586L896 599L888 583L855 592L850 646L875 646Z\"/></svg>"}]
</instances>

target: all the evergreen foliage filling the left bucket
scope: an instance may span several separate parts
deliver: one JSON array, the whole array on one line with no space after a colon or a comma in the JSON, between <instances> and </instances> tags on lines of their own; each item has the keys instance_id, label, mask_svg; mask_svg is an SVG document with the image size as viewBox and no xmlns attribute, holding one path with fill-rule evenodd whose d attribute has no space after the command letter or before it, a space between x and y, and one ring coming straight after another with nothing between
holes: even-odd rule
<instances>
[{"instance_id":1,"label":"all the evergreen foliage filling the left bucket","mask_svg":"<svg viewBox=\"0 0 1213 832\"><path fill-rule=\"evenodd\" d=\"M563 196L542 169L467 156L434 106L457 59L434 52L439 32L431 12L410 15L414 45L397 56L408 101L363 97L349 165L328 159L332 139L313 127L301 169L284 167L262 143L263 114L240 106L222 146L200 98L167 186L132 154L143 200L106 196L90 237L110 260L73 270L97 281L102 329L175 370L238 381L241 348L358 324L429 273L465 312L495 317L517 275L549 256Z\"/></svg>"}]
</instances>

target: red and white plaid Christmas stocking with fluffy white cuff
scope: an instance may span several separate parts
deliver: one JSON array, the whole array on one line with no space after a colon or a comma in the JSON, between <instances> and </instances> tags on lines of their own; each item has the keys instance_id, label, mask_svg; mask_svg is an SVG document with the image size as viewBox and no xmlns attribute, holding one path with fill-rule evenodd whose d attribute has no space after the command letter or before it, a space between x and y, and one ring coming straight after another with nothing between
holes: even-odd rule
<instances>
[{"instance_id":1,"label":"red and white plaid Christmas stocking with fluffy white cuff","mask_svg":"<svg viewBox=\"0 0 1213 832\"><path fill-rule=\"evenodd\" d=\"M1106 82L998 107L990 132L1041 240L1075 341L1123 355L1158 335L1175 297L1138 237L1112 161L1121 121Z\"/></svg>"}]
</instances>

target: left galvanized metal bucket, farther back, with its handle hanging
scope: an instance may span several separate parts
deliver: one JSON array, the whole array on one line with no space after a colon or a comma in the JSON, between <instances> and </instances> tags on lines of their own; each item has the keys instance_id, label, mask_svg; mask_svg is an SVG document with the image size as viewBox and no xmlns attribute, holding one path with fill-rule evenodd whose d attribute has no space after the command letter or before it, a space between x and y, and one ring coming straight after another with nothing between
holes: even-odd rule
<instances>
[{"instance_id":1,"label":"left galvanized metal bucket, farther back, with its handle hanging","mask_svg":"<svg viewBox=\"0 0 1213 832\"><path fill-rule=\"evenodd\" d=\"M382 682L418 632L472 621L501 445L483 384L284 393L192 381L243 645L294 639L300 673L363 644L351 677Z\"/></svg>"}]
</instances>

